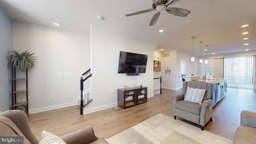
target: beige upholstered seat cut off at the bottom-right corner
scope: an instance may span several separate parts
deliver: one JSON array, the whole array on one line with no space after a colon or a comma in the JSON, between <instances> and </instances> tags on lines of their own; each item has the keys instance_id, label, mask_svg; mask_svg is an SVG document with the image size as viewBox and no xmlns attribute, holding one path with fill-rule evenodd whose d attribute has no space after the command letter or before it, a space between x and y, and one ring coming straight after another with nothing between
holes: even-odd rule
<instances>
[{"instance_id":1,"label":"beige upholstered seat cut off at the bottom-right corner","mask_svg":"<svg viewBox=\"0 0 256 144\"><path fill-rule=\"evenodd\" d=\"M243 110L241 126L236 130L233 144L256 144L256 113Z\"/></svg>"}]
</instances>

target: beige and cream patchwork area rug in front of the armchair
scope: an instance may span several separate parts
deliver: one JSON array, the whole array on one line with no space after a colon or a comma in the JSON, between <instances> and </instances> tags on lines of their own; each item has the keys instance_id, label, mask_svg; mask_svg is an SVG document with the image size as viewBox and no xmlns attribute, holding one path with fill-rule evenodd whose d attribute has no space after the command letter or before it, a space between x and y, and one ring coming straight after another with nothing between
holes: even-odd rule
<instances>
[{"instance_id":1,"label":"beige and cream patchwork area rug in front of the armchair","mask_svg":"<svg viewBox=\"0 0 256 144\"><path fill-rule=\"evenodd\" d=\"M106 140L110 144L232 144L232 140L161 113Z\"/></svg>"}]
</instances>

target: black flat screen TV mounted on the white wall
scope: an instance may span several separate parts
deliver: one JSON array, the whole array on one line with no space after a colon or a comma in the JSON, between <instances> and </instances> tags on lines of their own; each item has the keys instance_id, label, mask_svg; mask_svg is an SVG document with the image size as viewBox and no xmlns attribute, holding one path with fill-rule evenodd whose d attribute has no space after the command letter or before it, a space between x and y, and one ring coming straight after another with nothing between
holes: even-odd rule
<instances>
[{"instance_id":1,"label":"black flat screen TV mounted on the white wall","mask_svg":"<svg viewBox=\"0 0 256 144\"><path fill-rule=\"evenodd\" d=\"M120 51L118 74L146 73L148 55Z\"/></svg>"}]
</instances>

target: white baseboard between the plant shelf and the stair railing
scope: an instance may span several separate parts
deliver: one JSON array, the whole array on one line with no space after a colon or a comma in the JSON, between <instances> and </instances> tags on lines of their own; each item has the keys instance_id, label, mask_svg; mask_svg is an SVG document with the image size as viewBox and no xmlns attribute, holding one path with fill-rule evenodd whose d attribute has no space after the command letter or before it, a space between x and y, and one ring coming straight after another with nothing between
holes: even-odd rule
<instances>
[{"instance_id":1,"label":"white baseboard between the plant shelf and the stair railing","mask_svg":"<svg viewBox=\"0 0 256 144\"><path fill-rule=\"evenodd\" d=\"M54 105L54 106L46 106L46 107L42 107L42 108L36 108L36 109L31 109L28 110L29 114L34 114L34 113L38 113L38 112L44 112L44 111L48 111L48 110L55 110L58 108L65 108L68 106L75 106L78 105L77 102L70 102L70 103L66 103L66 104L58 104L58 105Z\"/></svg>"}]
</instances>

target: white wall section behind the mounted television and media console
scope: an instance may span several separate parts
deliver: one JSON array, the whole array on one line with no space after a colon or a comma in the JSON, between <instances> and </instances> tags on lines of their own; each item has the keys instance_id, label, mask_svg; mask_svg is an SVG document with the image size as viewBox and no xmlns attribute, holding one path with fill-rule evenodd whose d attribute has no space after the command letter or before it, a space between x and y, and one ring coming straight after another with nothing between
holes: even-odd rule
<instances>
[{"instance_id":1,"label":"white wall section behind the mounted television and media console","mask_svg":"<svg viewBox=\"0 0 256 144\"><path fill-rule=\"evenodd\" d=\"M148 87L153 96L153 51L157 44L92 26L92 102L84 108L90 113L117 106L117 89L124 85ZM147 54L146 73L139 76L118 74L120 51Z\"/></svg>"}]
</instances>

